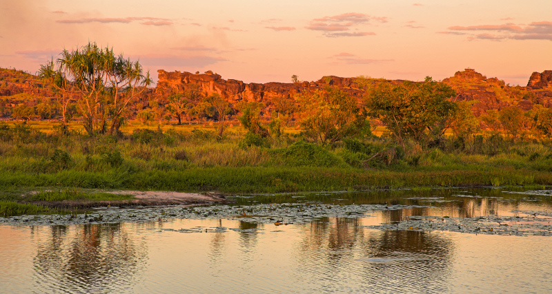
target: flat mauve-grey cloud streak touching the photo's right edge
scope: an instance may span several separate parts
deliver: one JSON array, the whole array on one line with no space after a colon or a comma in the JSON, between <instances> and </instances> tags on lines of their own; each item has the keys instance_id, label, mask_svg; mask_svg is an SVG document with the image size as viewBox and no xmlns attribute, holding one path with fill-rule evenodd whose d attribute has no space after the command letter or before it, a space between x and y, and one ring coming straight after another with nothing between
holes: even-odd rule
<instances>
[{"instance_id":1,"label":"flat mauve-grey cloud streak touching the photo's right edge","mask_svg":"<svg viewBox=\"0 0 552 294\"><path fill-rule=\"evenodd\" d=\"M535 21L528 25L516 25L514 23L505 23L502 25L471 25L471 26L453 26L449 28L449 32L477 32L487 31L495 32L495 34L472 34L468 37L469 40L484 39L484 40L549 40L552 41L552 22L551 21Z\"/></svg>"}]
</instances>

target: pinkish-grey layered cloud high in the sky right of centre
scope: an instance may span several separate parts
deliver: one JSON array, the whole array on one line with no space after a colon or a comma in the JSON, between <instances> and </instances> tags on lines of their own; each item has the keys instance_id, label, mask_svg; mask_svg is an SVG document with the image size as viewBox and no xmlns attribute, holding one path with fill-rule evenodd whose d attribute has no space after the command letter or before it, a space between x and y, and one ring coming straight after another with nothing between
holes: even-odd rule
<instances>
[{"instance_id":1,"label":"pinkish-grey layered cloud high in the sky right of centre","mask_svg":"<svg viewBox=\"0 0 552 294\"><path fill-rule=\"evenodd\" d=\"M386 23L387 17L371 17L368 14L349 12L332 17L313 19L305 28L324 32L324 36L368 36L374 32L346 32L358 25L365 25L371 21Z\"/></svg>"}]
</instances>

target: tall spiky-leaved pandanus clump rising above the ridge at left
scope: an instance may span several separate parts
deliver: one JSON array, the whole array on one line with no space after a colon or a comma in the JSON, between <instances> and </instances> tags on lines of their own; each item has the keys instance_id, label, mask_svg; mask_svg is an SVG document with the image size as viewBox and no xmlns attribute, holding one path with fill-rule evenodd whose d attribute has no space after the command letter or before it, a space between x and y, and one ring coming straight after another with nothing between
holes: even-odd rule
<instances>
[{"instance_id":1,"label":"tall spiky-leaved pandanus clump rising above the ridge at left","mask_svg":"<svg viewBox=\"0 0 552 294\"><path fill-rule=\"evenodd\" d=\"M86 132L117 134L128 104L152 83L139 61L89 42L77 50L63 50L61 58L41 66L41 76L65 94L75 94Z\"/></svg>"}]
</instances>

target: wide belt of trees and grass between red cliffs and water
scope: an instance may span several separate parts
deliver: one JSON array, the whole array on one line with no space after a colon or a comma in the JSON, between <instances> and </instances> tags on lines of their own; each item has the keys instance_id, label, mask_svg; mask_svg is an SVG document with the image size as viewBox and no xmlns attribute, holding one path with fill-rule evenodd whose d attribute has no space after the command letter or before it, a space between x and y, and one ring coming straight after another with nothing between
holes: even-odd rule
<instances>
[{"instance_id":1,"label":"wide belt of trees and grass between red cliffs and water","mask_svg":"<svg viewBox=\"0 0 552 294\"><path fill-rule=\"evenodd\" d=\"M41 65L39 77L23 76L36 78L46 100L2 104L3 116L30 121L0 123L0 189L42 191L9 199L20 204L120 197L71 189L279 193L552 183L550 108L475 117L473 103L455 101L453 87L430 76L420 83L359 76L351 80L356 94L328 77L266 103L237 102L193 83L152 91L138 61L94 42L63 50ZM37 114L59 124L31 122Z\"/></svg>"}]
</instances>

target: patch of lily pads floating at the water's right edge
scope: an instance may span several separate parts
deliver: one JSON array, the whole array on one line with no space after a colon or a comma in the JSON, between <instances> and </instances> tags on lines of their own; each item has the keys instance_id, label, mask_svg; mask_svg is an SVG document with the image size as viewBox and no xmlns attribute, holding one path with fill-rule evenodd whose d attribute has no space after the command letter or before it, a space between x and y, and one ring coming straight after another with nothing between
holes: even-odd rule
<instances>
[{"instance_id":1,"label":"patch of lily pads floating at the water's right edge","mask_svg":"<svg viewBox=\"0 0 552 294\"><path fill-rule=\"evenodd\" d=\"M543 235L552 236L552 213L546 211L513 211L528 216L485 216L453 218L439 216L411 216L398 224L362 226L383 231L452 231L488 235ZM546 216L546 217L537 217Z\"/></svg>"}]
</instances>

